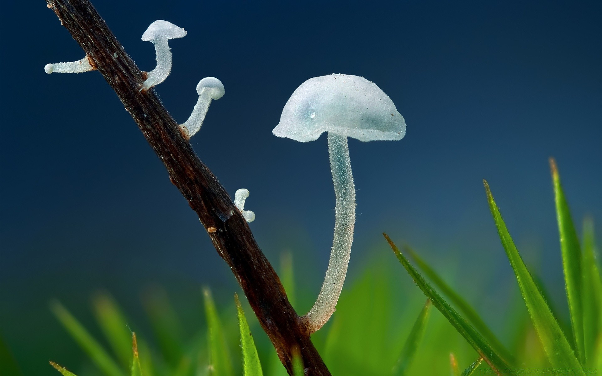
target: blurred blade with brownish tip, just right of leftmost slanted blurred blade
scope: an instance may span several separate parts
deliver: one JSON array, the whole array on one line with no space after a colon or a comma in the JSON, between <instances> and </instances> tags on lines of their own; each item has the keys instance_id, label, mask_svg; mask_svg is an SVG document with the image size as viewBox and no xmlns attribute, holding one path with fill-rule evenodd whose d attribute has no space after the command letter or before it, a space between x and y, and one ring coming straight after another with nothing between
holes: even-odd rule
<instances>
[{"instance_id":1,"label":"blurred blade with brownish tip, just right of leftmost slanted blurred blade","mask_svg":"<svg viewBox=\"0 0 602 376\"><path fill-rule=\"evenodd\" d=\"M92 299L96 321L107 338L113 353L123 368L130 366L131 331L117 303L106 292L99 292Z\"/></svg>"}]
</instances>

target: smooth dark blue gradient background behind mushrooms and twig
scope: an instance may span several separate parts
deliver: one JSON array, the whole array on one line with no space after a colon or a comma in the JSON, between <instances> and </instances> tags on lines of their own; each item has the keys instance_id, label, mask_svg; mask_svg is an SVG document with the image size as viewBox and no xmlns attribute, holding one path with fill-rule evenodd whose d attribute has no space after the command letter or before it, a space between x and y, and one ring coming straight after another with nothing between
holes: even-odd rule
<instances>
[{"instance_id":1,"label":"smooth dark blue gradient background behind mushrooms and twig","mask_svg":"<svg viewBox=\"0 0 602 376\"><path fill-rule=\"evenodd\" d=\"M302 144L272 128L303 81L348 73L376 82L408 125L401 141L350 140L359 214L351 276L371 255L388 256L386 231L456 270L469 296L515 288L485 178L524 258L565 309L547 158L558 161L579 228L585 215L600 223L600 1L94 4L143 70L155 66L140 40L151 22L188 31L170 42L173 69L157 94L184 122L197 82L223 82L193 147L231 194L250 190L259 244L275 264L292 250L311 294L334 226L326 138ZM176 286L176 300L209 285L229 301L234 278L102 76L44 73L83 56L55 14L43 1L15 1L0 17L0 331L21 362L40 354L23 370L52 374L45 362L75 347L49 314L53 297L84 318L99 287L133 312L155 283Z\"/></svg>"}]
</instances>

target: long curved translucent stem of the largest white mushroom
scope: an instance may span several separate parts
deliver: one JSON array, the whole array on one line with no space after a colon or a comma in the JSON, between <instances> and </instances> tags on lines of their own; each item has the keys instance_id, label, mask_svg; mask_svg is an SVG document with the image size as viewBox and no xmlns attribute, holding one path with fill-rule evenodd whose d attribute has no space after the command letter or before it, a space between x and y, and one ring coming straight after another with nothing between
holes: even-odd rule
<instances>
[{"instance_id":1,"label":"long curved translucent stem of the largest white mushroom","mask_svg":"<svg viewBox=\"0 0 602 376\"><path fill-rule=\"evenodd\" d=\"M355 185L353 185L347 137L329 132L328 152L332 182L337 197L335 235L320 294L318 294L314 307L303 316L309 333L314 333L323 327L335 312L347 274L353 242L353 226L355 225Z\"/></svg>"}]
</instances>

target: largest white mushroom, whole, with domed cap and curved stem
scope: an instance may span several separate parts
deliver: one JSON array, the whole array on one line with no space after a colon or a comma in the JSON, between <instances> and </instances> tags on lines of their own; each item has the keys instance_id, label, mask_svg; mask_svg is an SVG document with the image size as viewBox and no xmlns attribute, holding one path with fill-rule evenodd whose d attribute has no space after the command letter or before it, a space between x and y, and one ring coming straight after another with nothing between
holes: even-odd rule
<instances>
[{"instance_id":1,"label":"largest white mushroom, whole, with domed cap and curved stem","mask_svg":"<svg viewBox=\"0 0 602 376\"><path fill-rule=\"evenodd\" d=\"M280 123L272 132L300 142L317 140L328 132L337 206L326 277L314 307L303 316L310 333L314 333L335 311L351 254L356 204L347 137L400 140L406 133L406 123L393 101L373 82L332 74L303 82L288 99Z\"/></svg>"}]
</instances>

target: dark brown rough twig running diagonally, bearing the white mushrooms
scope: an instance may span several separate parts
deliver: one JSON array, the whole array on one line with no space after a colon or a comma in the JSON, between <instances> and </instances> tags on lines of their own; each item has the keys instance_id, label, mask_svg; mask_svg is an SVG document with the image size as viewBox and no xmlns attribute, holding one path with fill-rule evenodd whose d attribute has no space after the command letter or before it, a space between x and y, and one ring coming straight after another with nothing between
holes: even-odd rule
<instances>
[{"instance_id":1,"label":"dark brown rough twig running diagonally, bearing the white mushrooms","mask_svg":"<svg viewBox=\"0 0 602 376\"><path fill-rule=\"evenodd\" d=\"M46 1L113 87L167 168L172 183L199 215L217 253L232 269L288 373L292 375L293 351L299 351L306 375L330 375L240 211L194 154L154 92L139 90L143 82L140 69L92 4L88 0Z\"/></svg>"}]
</instances>

